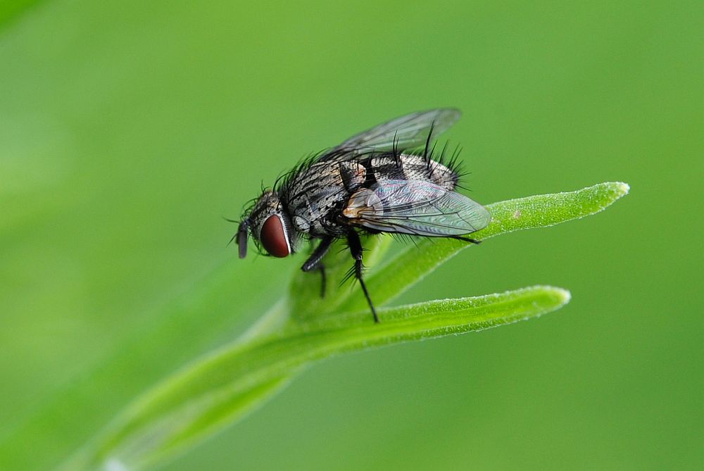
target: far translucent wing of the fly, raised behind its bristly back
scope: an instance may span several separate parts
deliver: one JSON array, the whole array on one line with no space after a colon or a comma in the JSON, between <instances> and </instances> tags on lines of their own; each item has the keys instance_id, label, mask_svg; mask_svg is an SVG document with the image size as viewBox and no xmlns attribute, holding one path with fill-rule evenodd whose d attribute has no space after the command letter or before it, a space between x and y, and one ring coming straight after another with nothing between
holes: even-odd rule
<instances>
[{"instance_id":1,"label":"far translucent wing of the fly, raised behind its bristly back","mask_svg":"<svg viewBox=\"0 0 704 471\"><path fill-rule=\"evenodd\" d=\"M345 161L364 153L424 146L455 124L460 115L462 113L455 108L437 108L401 116L350 137L318 160Z\"/></svg>"}]
</instances>

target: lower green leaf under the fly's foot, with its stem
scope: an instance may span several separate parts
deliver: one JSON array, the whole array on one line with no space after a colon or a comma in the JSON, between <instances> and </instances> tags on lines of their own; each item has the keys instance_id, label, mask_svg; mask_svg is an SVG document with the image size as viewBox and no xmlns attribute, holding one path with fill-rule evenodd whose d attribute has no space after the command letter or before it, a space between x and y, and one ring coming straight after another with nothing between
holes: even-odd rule
<instances>
[{"instance_id":1,"label":"lower green leaf under the fly's foot, with its stem","mask_svg":"<svg viewBox=\"0 0 704 471\"><path fill-rule=\"evenodd\" d=\"M303 365L336 353L478 331L548 313L570 300L560 288L532 287L326 317L258 341L238 341L192 364L125 411L103 437L63 469L105 463L142 469L242 417Z\"/></svg>"}]
</instances>

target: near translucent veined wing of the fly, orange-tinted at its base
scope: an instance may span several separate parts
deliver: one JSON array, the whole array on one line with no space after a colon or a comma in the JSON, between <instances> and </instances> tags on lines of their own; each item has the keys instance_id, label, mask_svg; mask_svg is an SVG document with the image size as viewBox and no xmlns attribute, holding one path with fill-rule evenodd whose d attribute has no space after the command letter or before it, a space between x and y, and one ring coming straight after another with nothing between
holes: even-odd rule
<instances>
[{"instance_id":1,"label":"near translucent veined wing of the fly, orange-tinted at its base","mask_svg":"<svg viewBox=\"0 0 704 471\"><path fill-rule=\"evenodd\" d=\"M427 237L470 234L491 221L476 201L422 180L386 180L361 189L343 214L362 227Z\"/></svg>"}]
</instances>

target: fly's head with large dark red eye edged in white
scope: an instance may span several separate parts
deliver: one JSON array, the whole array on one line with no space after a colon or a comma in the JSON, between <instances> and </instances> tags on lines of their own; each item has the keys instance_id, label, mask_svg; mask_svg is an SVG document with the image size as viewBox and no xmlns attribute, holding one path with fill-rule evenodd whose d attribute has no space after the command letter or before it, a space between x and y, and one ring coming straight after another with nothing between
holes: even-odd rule
<instances>
[{"instance_id":1,"label":"fly's head with large dark red eye edged in white","mask_svg":"<svg viewBox=\"0 0 704 471\"><path fill-rule=\"evenodd\" d=\"M249 213L251 236L272 256L296 251L298 231L277 191L266 190Z\"/></svg>"}]
</instances>

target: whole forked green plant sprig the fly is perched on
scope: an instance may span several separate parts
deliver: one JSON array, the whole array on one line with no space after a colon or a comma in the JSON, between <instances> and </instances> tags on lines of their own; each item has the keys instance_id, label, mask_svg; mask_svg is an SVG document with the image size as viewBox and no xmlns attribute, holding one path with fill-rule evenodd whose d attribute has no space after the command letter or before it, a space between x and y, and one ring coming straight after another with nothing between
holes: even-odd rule
<instances>
[{"instance_id":1,"label":"whole forked green plant sprig the fly is perched on","mask_svg":"<svg viewBox=\"0 0 704 471\"><path fill-rule=\"evenodd\" d=\"M603 183L569 193L529 196L487 206L491 224L482 239L531 227L545 227L601 211L628 192L623 183ZM388 237L367 241L376 262L389 247ZM396 253L370 274L374 299L386 303L415 284L467 244L423 240ZM348 269L348 253L325 259L329 276ZM347 351L403 341L474 332L558 309L570 293L555 287L531 287L502 294L428 301L379 309L380 324L348 286L330 287L320 299L320 284L296 274L287 298L232 344L187 365L146 392L62 470L96 467L138 470L175 456L260 406L313 361ZM332 284L332 283L331 283ZM223 289L220 284L214 289ZM224 285L223 285L224 286ZM214 296L217 296L215 293ZM330 307L332 305L332 307Z\"/></svg>"}]
</instances>

